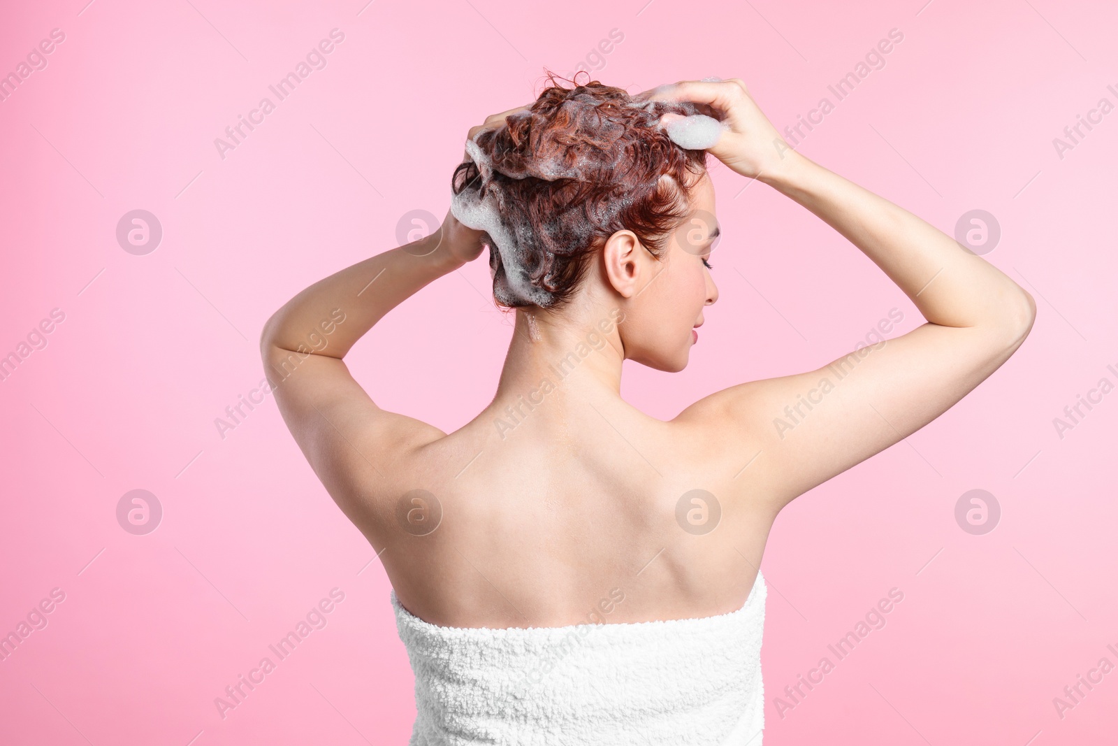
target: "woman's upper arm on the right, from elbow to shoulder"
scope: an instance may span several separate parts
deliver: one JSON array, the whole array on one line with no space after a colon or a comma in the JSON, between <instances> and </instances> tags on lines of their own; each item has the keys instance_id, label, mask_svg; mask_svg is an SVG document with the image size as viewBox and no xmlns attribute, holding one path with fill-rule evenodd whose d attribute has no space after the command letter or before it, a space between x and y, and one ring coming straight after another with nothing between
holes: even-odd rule
<instances>
[{"instance_id":1,"label":"woman's upper arm on the right, from elbow to shoulder","mask_svg":"<svg viewBox=\"0 0 1118 746\"><path fill-rule=\"evenodd\" d=\"M996 327L925 323L816 370L718 391L676 419L718 433L713 457L732 472L749 462L750 492L779 510L920 429L997 370L1031 328L1027 305Z\"/></svg>"}]
</instances>

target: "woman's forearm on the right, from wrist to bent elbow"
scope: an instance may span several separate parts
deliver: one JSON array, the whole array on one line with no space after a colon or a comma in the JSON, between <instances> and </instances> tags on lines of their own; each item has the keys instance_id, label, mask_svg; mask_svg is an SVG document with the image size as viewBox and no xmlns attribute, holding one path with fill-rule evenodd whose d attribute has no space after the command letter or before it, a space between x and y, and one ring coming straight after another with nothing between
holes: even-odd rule
<instances>
[{"instance_id":1,"label":"woman's forearm on the right, from wrist to bent elbow","mask_svg":"<svg viewBox=\"0 0 1118 746\"><path fill-rule=\"evenodd\" d=\"M858 246L925 319L945 327L1031 323L1032 298L997 267L916 215L796 151L785 158L780 169L761 173L760 180Z\"/></svg>"}]
</instances>

